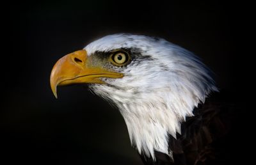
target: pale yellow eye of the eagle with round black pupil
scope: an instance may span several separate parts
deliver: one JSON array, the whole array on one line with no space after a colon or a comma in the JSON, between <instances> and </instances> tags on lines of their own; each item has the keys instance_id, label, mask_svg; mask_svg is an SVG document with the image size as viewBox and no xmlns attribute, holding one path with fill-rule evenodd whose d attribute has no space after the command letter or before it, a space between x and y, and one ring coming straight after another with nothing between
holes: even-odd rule
<instances>
[{"instance_id":1,"label":"pale yellow eye of the eagle with round black pupil","mask_svg":"<svg viewBox=\"0 0 256 165\"><path fill-rule=\"evenodd\" d=\"M127 52L115 52L111 55L111 62L117 66L123 66L129 61Z\"/></svg>"}]
</instances>

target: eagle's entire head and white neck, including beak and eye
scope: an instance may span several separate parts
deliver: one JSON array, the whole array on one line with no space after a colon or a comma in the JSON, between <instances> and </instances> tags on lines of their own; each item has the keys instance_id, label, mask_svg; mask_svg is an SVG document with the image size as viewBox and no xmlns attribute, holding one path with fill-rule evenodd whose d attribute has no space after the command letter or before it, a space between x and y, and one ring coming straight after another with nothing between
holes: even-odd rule
<instances>
[{"instance_id":1,"label":"eagle's entire head and white neck, including beak and eye","mask_svg":"<svg viewBox=\"0 0 256 165\"><path fill-rule=\"evenodd\" d=\"M209 70L191 52L160 38L109 35L82 51L61 58L51 74L51 88L89 83L90 89L118 107L131 142L154 158L168 151L168 135L216 91Z\"/></svg>"}]
</instances>

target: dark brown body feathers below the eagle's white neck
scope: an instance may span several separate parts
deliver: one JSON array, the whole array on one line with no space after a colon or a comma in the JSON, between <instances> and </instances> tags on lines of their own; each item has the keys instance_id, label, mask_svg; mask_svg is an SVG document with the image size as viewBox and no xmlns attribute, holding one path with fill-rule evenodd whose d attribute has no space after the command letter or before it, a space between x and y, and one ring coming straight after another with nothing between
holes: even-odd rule
<instances>
[{"instance_id":1,"label":"dark brown body feathers below the eagle's white neck","mask_svg":"<svg viewBox=\"0 0 256 165\"><path fill-rule=\"evenodd\" d=\"M181 135L177 139L170 136L169 148L173 159L168 155L155 152L156 161L141 155L147 165L206 165L225 164L218 143L223 143L230 130L233 106L221 101L220 93L214 93L194 109L195 116L186 118L182 123ZM216 147L217 146L217 147Z\"/></svg>"}]
</instances>

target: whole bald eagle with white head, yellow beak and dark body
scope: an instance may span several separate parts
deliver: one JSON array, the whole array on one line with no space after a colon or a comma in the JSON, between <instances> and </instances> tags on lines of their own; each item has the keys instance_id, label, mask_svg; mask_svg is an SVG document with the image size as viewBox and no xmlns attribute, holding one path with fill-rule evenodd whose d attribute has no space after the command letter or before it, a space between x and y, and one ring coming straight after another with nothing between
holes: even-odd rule
<instances>
[{"instance_id":1,"label":"whole bald eagle with white head, yellow beak and dark body","mask_svg":"<svg viewBox=\"0 0 256 165\"><path fill-rule=\"evenodd\" d=\"M59 59L51 89L88 83L115 105L145 164L206 164L223 134L218 88L198 57L162 38L115 34ZM214 135L216 134L216 136Z\"/></svg>"}]
</instances>

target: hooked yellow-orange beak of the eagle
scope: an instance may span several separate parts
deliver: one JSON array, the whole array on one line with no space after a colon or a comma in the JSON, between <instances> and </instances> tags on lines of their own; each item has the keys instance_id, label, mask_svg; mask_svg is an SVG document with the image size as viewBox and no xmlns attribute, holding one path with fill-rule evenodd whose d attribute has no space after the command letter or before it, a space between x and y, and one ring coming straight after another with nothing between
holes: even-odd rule
<instances>
[{"instance_id":1,"label":"hooked yellow-orange beak of the eagle","mask_svg":"<svg viewBox=\"0 0 256 165\"><path fill-rule=\"evenodd\" d=\"M100 77L121 78L123 74L109 72L102 67L93 67L85 50L72 52L59 59L52 68L51 89L57 98L57 86L78 83L104 84Z\"/></svg>"}]
</instances>

